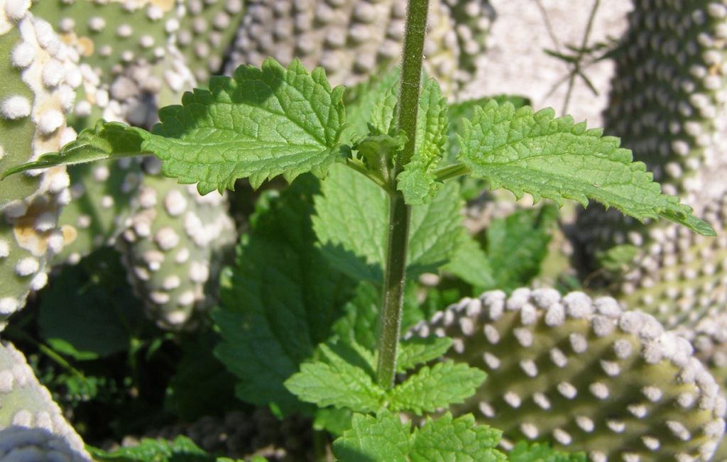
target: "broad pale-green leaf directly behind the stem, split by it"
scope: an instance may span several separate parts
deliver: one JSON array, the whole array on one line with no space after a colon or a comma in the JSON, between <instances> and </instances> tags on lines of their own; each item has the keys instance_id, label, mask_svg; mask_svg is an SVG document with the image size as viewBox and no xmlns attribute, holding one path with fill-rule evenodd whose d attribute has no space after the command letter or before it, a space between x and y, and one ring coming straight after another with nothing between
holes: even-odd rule
<instances>
[{"instance_id":1,"label":"broad pale-green leaf directly behind the stem, split by it","mask_svg":"<svg viewBox=\"0 0 727 462\"><path fill-rule=\"evenodd\" d=\"M344 166L331 169L316 198L313 227L321 249L342 272L380 284L385 261L388 198L374 182ZM461 239L462 208L456 182L430 203L411 208L407 277L436 271Z\"/></svg>"}]
</instances>

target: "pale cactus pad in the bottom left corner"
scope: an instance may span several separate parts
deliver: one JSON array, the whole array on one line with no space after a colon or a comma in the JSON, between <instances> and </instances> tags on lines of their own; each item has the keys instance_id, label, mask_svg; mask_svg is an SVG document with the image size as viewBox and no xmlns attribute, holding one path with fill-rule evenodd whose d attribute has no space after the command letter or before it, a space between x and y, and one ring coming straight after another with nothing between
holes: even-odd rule
<instances>
[{"instance_id":1,"label":"pale cactus pad in the bottom left corner","mask_svg":"<svg viewBox=\"0 0 727 462\"><path fill-rule=\"evenodd\" d=\"M13 460L8 455L8 451L13 449L8 446L9 443L37 444L41 449L44 447L43 441L54 439L49 437L49 434L60 437L58 441L63 439L65 445L70 445L70 450L67 453L68 455L75 453L76 457L71 458L71 461L90 459L84 449L84 442L81 441L81 437L65 421L60 408L53 402L48 390L39 384L23 354L7 342L0 345L0 400L2 401L2 408L0 409L1 460ZM39 429L44 433L27 433L20 431L20 428ZM63 445L55 442L52 447L62 449ZM44 459L26 458L20 460L37 461Z\"/></svg>"}]
</instances>

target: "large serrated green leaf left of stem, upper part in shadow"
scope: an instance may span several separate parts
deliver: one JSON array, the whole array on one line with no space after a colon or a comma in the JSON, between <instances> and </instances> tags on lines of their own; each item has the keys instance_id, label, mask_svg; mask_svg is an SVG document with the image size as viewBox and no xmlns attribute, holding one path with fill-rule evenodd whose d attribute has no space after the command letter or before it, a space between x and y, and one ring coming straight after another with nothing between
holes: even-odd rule
<instances>
[{"instance_id":1,"label":"large serrated green leaf left of stem, upper part in shadow","mask_svg":"<svg viewBox=\"0 0 727 462\"><path fill-rule=\"evenodd\" d=\"M287 69L273 59L260 69L243 65L162 108L142 147L164 161L164 175L198 183L202 194L233 189L238 178L255 188L278 175L324 178L343 158L342 95L322 68L308 73L298 60Z\"/></svg>"}]
</instances>

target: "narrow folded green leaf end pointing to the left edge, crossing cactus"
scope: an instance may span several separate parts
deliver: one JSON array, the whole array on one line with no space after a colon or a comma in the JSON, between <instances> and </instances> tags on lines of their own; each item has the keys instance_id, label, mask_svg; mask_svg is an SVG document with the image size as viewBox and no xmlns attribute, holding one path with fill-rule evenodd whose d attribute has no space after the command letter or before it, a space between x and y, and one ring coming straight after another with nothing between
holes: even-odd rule
<instances>
[{"instance_id":1,"label":"narrow folded green leaf end pointing to the left edge, crossing cactus","mask_svg":"<svg viewBox=\"0 0 727 462\"><path fill-rule=\"evenodd\" d=\"M101 119L96 122L95 127L81 131L74 141L61 148L60 153L44 154L37 161L7 169L0 179L32 169L76 165L108 158L148 155L151 152L142 148L145 133L142 129L130 127L124 123L107 122Z\"/></svg>"}]
</instances>

